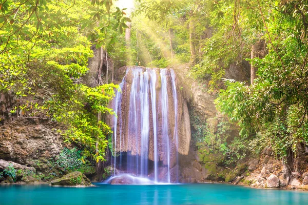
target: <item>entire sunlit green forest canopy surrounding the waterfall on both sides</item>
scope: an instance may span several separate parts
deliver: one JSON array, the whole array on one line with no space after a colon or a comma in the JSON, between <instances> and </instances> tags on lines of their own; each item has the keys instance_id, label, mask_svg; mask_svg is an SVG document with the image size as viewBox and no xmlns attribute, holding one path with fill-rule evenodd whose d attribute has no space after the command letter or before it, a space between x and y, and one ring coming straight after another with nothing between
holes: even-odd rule
<instances>
[{"instance_id":1,"label":"entire sunlit green forest canopy surrounding the waterfall on both sides","mask_svg":"<svg viewBox=\"0 0 308 205\"><path fill-rule=\"evenodd\" d=\"M2 0L0 9L0 91L18 101L11 115L64 122L84 157L104 158L111 130L98 116L112 114L117 88L75 83L93 44L117 68L187 65L239 125L238 148L271 146L285 158L308 143L307 1L139 0L130 18L112 0ZM230 78L230 68L243 76Z\"/></svg>"}]
</instances>

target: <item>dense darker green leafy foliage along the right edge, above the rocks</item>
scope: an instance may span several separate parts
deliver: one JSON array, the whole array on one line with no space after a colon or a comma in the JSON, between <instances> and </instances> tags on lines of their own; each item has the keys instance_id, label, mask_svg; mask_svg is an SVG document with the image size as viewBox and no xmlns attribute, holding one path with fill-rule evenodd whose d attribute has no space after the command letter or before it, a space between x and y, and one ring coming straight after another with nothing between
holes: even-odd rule
<instances>
[{"instance_id":1,"label":"dense darker green leafy foliage along the right edge, above the rocks","mask_svg":"<svg viewBox=\"0 0 308 205\"><path fill-rule=\"evenodd\" d=\"M296 157L300 144L306 144L307 117L307 28L305 2L277 2L270 5L272 19L266 22L268 54L253 59L258 68L252 86L225 82L217 107L241 127L240 135L253 136L255 148L271 146L275 153ZM254 148L253 148L254 149Z\"/></svg>"}]
</instances>

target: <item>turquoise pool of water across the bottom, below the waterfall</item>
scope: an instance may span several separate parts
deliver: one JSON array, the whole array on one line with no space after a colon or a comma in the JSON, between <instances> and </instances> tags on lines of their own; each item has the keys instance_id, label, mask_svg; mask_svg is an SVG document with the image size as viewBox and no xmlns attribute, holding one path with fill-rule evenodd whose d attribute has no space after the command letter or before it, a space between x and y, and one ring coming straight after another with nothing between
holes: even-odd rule
<instances>
[{"instance_id":1,"label":"turquoise pool of water across the bottom, below the waterfall","mask_svg":"<svg viewBox=\"0 0 308 205\"><path fill-rule=\"evenodd\" d=\"M0 186L1 205L78 204L308 204L308 192L251 189L224 184Z\"/></svg>"}]
</instances>

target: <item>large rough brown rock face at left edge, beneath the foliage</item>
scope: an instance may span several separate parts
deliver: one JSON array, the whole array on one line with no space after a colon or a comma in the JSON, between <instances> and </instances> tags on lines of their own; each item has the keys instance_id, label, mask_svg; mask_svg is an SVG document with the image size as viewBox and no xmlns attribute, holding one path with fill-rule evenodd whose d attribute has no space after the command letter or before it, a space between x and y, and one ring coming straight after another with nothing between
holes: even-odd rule
<instances>
[{"instance_id":1,"label":"large rough brown rock face at left edge, beneath the foliage","mask_svg":"<svg viewBox=\"0 0 308 205\"><path fill-rule=\"evenodd\" d=\"M61 126L44 119L18 117L7 121L0 126L0 159L37 169L35 160L55 157L60 153L63 141L57 129ZM30 169L14 163L15 166L17 169Z\"/></svg>"}]
</instances>

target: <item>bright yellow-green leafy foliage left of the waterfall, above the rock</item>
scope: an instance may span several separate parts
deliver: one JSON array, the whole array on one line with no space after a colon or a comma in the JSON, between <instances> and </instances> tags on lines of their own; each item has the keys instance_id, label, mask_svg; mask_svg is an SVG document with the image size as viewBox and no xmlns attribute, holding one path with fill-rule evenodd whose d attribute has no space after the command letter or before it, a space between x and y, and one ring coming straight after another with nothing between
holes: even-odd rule
<instances>
[{"instance_id":1,"label":"bright yellow-green leafy foliage left of the waterfall, above the rock","mask_svg":"<svg viewBox=\"0 0 308 205\"><path fill-rule=\"evenodd\" d=\"M110 128L98 118L117 86L78 84L97 48L115 43L127 28L124 10L112 0L0 3L0 92L16 100L10 115L43 117L66 125L67 142L86 157L104 158Z\"/></svg>"}]
</instances>

